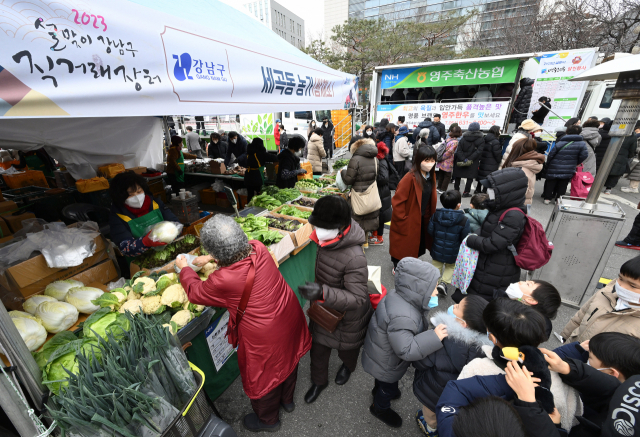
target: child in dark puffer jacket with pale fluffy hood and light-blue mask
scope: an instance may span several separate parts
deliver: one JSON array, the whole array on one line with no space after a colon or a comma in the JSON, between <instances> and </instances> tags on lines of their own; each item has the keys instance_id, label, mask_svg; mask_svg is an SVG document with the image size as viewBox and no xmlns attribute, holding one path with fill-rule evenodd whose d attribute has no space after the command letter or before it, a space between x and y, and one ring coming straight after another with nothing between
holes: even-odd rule
<instances>
[{"instance_id":1,"label":"child in dark puffer jacket with pale fluffy hood and light-blue mask","mask_svg":"<svg viewBox=\"0 0 640 437\"><path fill-rule=\"evenodd\" d=\"M413 362L413 394L422 404L416 414L419 426L424 421L432 429L438 427L436 404L447 382L458 379L462 368L472 360L485 357L482 346L493 348L482 321L487 304L480 296L467 296L453 305L453 317L444 312L433 317L435 326L447 327L447 337L442 340L441 349Z\"/></svg>"}]
</instances>

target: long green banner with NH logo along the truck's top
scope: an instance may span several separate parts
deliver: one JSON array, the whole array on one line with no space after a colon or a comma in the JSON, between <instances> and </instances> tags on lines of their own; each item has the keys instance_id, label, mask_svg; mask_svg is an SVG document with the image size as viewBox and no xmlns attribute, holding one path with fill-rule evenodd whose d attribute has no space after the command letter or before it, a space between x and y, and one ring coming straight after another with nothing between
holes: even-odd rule
<instances>
[{"instance_id":1,"label":"long green banner with NH logo along the truck's top","mask_svg":"<svg viewBox=\"0 0 640 437\"><path fill-rule=\"evenodd\" d=\"M519 60L514 59L383 70L382 89L514 82L519 63Z\"/></svg>"}]
</instances>

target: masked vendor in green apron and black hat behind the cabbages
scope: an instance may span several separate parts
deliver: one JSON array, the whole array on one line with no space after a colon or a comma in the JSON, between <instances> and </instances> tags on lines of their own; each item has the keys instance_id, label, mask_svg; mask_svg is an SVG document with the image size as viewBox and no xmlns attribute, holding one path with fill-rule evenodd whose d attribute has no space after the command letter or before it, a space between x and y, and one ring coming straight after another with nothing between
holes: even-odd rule
<instances>
[{"instance_id":1,"label":"masked vendor in green apron and black hat behind the cabbages","mask_svg":"<svg viewBox=\"0 0 640 437\"><path fill-rule=\"evenodd\" d=\"M159 198L153 197L145 178L132 171L120 173L111 180L109 194L111 241L128 260L166 244L151 241L147 228L162 221L177 223L179 220Z\"/></svg>"}]
</instances>

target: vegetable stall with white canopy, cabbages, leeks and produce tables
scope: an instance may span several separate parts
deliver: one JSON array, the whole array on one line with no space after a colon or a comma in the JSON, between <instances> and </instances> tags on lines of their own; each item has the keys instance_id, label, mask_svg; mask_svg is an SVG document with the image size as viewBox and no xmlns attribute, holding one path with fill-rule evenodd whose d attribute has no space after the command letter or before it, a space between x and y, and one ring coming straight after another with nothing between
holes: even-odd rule
<instances>
[{"instance_id":1,"label":"vegetable stall with white canopy, cabbages, leeks and produce tables","mask_svg":"<svg viewBox=\"0 0 640 437\"><path fill-rule=\"evenodd\" d=\"M0 406L10 422L0 434L137 437L182 426L195 435L206 423L189 411L216 419L205 393L215 399L237 377L226 311L188 302L173 265L176 254L201 253L198 226L211 215L200 216L201 190L167 196L162 116L344 108L357 95L354 76L243 13L211 0L194 16L174 3L96 0L99 16L71 0L0 5L12 17L0 23ZM222 19L213 27L210 16ZM296 79L281 85L279 71ZM53 168L43 169L47 155ZM111 243L105 212L124 171L184 224L132 263ZM243 212L294 290L313 279L315 246L305 243L308 204L290 202L320 195L299 191L270 192L268 222L248 217L261 208Z\"/></svg>"}]
</instances>

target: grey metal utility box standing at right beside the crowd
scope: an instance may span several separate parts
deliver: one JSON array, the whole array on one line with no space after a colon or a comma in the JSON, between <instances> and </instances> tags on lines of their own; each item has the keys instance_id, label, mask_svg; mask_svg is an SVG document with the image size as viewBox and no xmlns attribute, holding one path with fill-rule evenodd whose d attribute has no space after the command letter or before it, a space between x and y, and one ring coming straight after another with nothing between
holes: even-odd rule
<instances>
[{"instance_id":1,"label":"grey metal utility box standing at right beside the crowd","mask_svg":"<svg viewBox=\"0 0 640 437\"><path fill-rule=\"evenodd\" d=\"M579 308L595 292L624 220L617 203L587 207L584 199L561 197L546 229L553 255L533 279L551 282L565 305Z\"/></svg>"}]
</instances>

